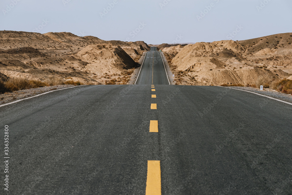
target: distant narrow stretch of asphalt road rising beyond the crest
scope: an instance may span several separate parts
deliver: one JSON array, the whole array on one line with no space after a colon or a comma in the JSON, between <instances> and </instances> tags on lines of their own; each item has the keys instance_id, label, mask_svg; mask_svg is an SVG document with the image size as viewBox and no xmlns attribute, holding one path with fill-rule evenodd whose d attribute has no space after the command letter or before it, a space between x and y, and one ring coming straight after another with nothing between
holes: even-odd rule
<instances>
[{"instance_id":1,"label":"distant narrow stretch of asphalt road rising beyond the crest","mask_svg":"<svg viewBox=\"0 0 292 195\"><path fill-rule=\"evenodd\" d=\"M135 84L170 84L157 47L151 47L146 53Z\"/></svg>"}]
</instances>

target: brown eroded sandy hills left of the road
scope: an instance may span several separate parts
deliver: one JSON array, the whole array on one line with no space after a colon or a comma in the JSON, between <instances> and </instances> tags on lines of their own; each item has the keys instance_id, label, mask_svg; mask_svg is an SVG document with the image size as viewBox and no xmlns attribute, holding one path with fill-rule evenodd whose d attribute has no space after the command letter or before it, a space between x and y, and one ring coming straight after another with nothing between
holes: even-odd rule
<instances>
[{"instance_id":1,"label":"brown eroded sandy hills left of the road","mask_svg":"<svg viewBox=\"0 0 292 195\"><path fill-rule=\"evenodd\" d=\"M60 76L95 84L115 78L105 78L105 73L117 76L136 67L135 62L149 50L142 41L104 41L69 32L0 31L0 42L0 70L8 77L44 80Z\"/></svg>"}]
</instances>

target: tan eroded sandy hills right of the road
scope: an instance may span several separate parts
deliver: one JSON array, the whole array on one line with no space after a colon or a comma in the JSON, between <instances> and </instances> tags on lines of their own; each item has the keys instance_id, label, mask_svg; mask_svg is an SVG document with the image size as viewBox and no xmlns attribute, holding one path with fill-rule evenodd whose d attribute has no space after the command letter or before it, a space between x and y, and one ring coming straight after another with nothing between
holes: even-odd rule
<instances>
[{"instance_id":1,"label":"tan eroded sandy hills right of the road","mask_svg":"<svg viewBox=\"0 0 292 195\"><path fill-rule=\"evenodd\" d=\"M250 84L261 75L278 79L292 74L291 41L292 33L285 33L245 41L189 44L178 54L171 47L164 51L169 60L175 54L171 63L183 72L183 84Z\"/></svg>"}]
</instances>

